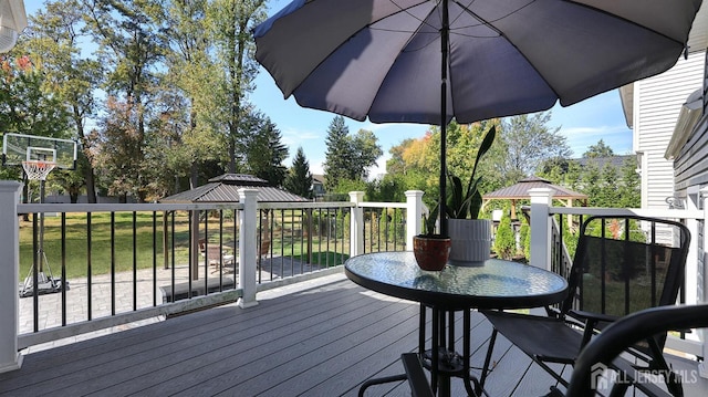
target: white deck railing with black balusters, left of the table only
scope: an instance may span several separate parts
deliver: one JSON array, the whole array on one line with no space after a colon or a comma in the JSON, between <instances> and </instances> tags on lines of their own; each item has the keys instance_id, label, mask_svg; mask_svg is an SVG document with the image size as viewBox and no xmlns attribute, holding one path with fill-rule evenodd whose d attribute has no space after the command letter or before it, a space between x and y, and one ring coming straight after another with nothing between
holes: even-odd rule
<instances>
[{"instance_id":1,"label":"white deck railing with black balusters, left of the table only","mask_svg":"<svg viewBox=\"0 0 708 397\"><path fill-rule=\"evenodd\" d=\"M423 209L423 192L409 191L406 192L407 201L398 203L384 203L384 202L363 202L363 192L353 192L351 195L352 200L350 202L304 202L304 203L259 203L257 202L256 189L242 189L240 191L241 201L232 203L139 203L139 205L77 205L77 203L20 203L20 190L21 184L14 181L0 181L0 372L12 370L21 365L22 357L18 354L18 351L40 343L55 341L63 337L75 336L86 332L103 330L129 322L140 321L145 318L152 318L156 316L165 316L174 313L179 313L185 310L191 310L198 306L210 305L219 302L218 295L227 295L225 299L236 299L238 296L237 304L241 307L249 307L258 304L257 292L267 289L275 288L279 285L293 283L319 274L299 274L296 276L290 276L289 279L279 278L277 281L259 283L257 280L257 263L260 263L257 259L260 257L258 250L259 241L259 227L261 227L259 213L263 210L301 210L308 211L310 209L327 209L332 211L340 211L345 209L351 215L351 229L347 231L348 245L344 248L346 254L356 255L363 253L365 247L368 250L381 249L374 247L375 244L367 240L367 236L364 236L365 228L373 227L371 219L366 221L365 211L368 209L368 217L372 217L376 210L382 208L395 208L403 213L405 220L400 220L405 227L405 241L397 243L397 249L405 249L413 245L413 236L417 234L420 230L420 213ZM171 212L171 211L189 211L192 213L190 218L191 223L198 222L199 211L233 211L237 216L237 224L235 224L235 241L238 243L237 258L238 262L238 288L226 291L221 294L197 296L194 299L177 301L171 303L150 304L145 307L137 307L128 310L127 312L114 313L105 316L97 315L96 318L92 318L88 315L88 320L81 321L79 323L66 323L65 325L54 326L46 330L37 330L30 333L20 332L19 318L20 302L19 302L19 263L20 263L20 238L19 238L19 222L18 215L20 213L69 213L69 212L83 212L83 213L100 213L100 212L135 212L135 211L152 211L152 212ZM417 217L417 218L416 218ZM197 218L197 219L195 219ZM386 223L388 224L388 223ZM199 227L196 227L197 232L194 232L190 227L190 243L191 247L198 245ZM237 231L238 230L238 231ZM237 237L238 236L238 237ZM262 238L262 237L260 237ZM365 243L367 243L365 245ZM341 245L340 245L341 247ZM388 245L386 245L388 247ZM272 253L272 251L271 251ZM173 252L174 255L174 252ZM167 255L166 255L167 258ZM173 257L174 258L174 257ZM202 272L207 278L207 269L200 269L199 254L196 249L191 249L189 257L189 274L195 279L199 272ZM167 264L167 263L166 263ZM205 263L205 268L208 264ZM320 272L321 273L321 272ZM326 272L325 272L326 273ZM91 278L91 275L88 275ZM194 281L202 283L202 281ZM115 279L112 276L110 283L114 284ZM175 281L173 278L173 285ZM206 281L205 289L206 289ZM87 284L91 284L88 279ZM71 288L71 285L70 285ZM91 289L91 286L88 286ZM189 286L191 289L191 284ZM133 288L135 290L135 286ZM135 292L134 292L135 293ZM115 296L115 292L111 294ZM34 315L37 315L38 297L30 296L25 300L34 299ZM88 301L91 307L91 293L88 293ZM111 297L114 299L114 297ZM97 305L111 305L112 303L98 302ZM135 304L133 304L135 306ZM115 311L114 311L115 312ZM4 321L7 320L7 321Z\"/></svg>"}]
</instances>

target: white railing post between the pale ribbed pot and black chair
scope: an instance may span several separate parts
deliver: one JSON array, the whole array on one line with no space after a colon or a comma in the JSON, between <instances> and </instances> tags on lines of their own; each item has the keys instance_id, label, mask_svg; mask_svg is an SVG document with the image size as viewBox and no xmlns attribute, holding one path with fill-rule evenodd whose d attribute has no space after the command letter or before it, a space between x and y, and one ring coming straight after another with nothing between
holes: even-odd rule
<instances>
[{"instance_id":1,"label":"white railing post between the pale ribbed pot and black chair","mask_svg":"<svg viewBox=\"0 0 708 397\"><path fill-rule=\"evenodd\" d=\"M551 270L551 217L553 190L529 189L531 196L531 260L537 268Z\"/></svg>"}]
</instances>

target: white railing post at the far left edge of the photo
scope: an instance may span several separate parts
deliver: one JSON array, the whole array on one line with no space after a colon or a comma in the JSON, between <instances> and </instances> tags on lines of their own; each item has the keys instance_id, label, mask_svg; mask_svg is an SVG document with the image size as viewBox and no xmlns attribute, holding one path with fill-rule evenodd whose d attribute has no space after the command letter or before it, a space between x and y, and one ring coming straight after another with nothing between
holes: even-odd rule
<instances>
[{"instance_id":1,"label":"white railing post at the far left edge of the photo","mask_svg":"<svg viewBox=\"0 0 708 397\"><path fill-rule=\"evenodd\" d=\"M22 184L0 180L0 373L19 369L20 224L18 200Z\"/></svg>"}]
</instances>

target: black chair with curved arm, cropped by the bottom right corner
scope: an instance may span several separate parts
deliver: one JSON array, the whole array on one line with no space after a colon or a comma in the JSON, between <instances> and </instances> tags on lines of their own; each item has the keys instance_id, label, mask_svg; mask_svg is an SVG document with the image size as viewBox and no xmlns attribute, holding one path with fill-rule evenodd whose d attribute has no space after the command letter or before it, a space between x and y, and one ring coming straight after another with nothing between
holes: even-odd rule
<instances>
[{"instance_id":1,"label":"black chair with curved arm, cropped by the bottom right corner","mask_svg":"<svg viewBox=\"0 0 708 397\"><path fill-rule=\"evenodd\" d=\"M633 344L667 331L687 328L708 328L708 305L685 305L646 309L626 317L620 318L607 326L602 334L593 338L581 352L575 361L575 367L566 396L595 396L601 386L612 387L611 396L624 396L629 383L631 374L622 370L614 376L614 385L601 385L602 378L597 368L613 367L616 357ZM644 377L643 383L650 383L656 377ZM604 380L608 382L608 380ZM668 396L663 388L655 388L650 396ZM558 394L563 396L562 394Z\"/></svg>"}]
</instances>

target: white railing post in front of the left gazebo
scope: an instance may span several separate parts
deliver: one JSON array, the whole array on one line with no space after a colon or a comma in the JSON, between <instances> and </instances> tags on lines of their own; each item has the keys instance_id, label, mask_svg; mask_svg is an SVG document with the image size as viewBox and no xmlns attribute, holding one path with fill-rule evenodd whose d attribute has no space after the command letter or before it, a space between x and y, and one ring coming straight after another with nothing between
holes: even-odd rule
<instances>
[{"instance_id":1,"label":"white railing post in front of the left gazebo","mask_svg":"<svg viewBox=\"0 0 708 397\"><path fill-rule=\"evenodd\" d=\"M243 205L240 217L239 238L239 288L242 291L237 304L246 309L258 304L256 301L256 251L258 243L258 189L241 188L239 202Z\"/></svg>"}]
</instances>

